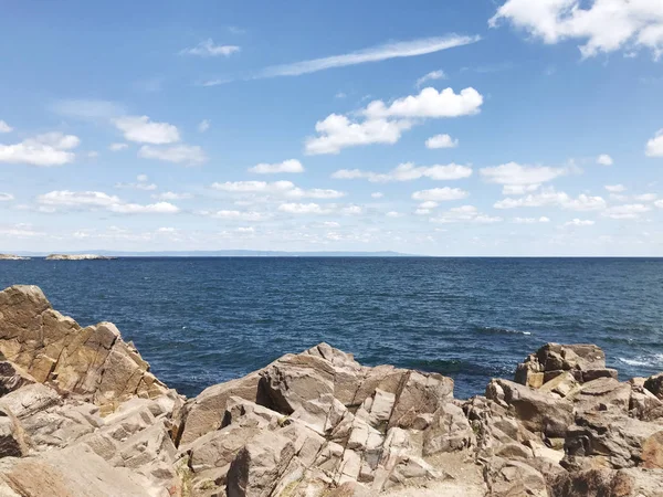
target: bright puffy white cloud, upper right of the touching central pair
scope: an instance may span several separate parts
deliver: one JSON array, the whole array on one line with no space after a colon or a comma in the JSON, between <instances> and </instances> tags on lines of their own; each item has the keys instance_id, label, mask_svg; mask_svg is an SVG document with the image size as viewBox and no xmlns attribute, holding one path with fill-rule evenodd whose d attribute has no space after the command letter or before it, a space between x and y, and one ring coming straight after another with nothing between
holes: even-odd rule
<instances>
[{"instance_id":1,"label":"bright puffy white cloud, upper right of the touching central pair","mask_svg":"<svg viewBox=\"0 0 663 497\"><path fill-rule=\"evenodd\" d=\"M483 96L469 87L456 94L452 88L438 92L435 88L423 88L419 95L398 98L387 106L382 101L373 101L364 110L370 119L386 117L401 118L441 118L470 116L480 112Z\"/></svg>"}]
</instances>

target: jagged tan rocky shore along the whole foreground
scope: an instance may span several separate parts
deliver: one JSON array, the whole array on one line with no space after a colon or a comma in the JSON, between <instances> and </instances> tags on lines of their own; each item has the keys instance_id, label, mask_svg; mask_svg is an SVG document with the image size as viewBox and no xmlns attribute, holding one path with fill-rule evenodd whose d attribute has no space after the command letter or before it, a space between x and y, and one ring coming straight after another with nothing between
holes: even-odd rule
<instances>
[{"instance_id":1,"label":"jagged tan rocky shore along the whole foreground","mask_svg":"<svg viewBox=\"0 0 663 497\"><path fill-rule=\"evenodd\" d=\"M466 401L326 343L186 399L114 325L13 286L0 352L0 496L663 496L663 373L620 382L592 345Z\"/></svg>"}]
</instances>

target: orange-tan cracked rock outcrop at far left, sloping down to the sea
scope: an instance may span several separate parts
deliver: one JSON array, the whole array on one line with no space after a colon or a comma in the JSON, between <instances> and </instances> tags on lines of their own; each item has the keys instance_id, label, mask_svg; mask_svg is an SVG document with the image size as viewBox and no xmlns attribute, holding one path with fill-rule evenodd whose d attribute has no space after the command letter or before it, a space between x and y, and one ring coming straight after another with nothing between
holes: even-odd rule
<instances>
[{"instance_id":1,"label":"orange-tan cracked rock outcrop at far left, sloping down to the sea","mask_svg":"<svg viewBox=\"0 0 663 497\"><path fill-rule=\"evenodd\" d=\"M167 389L110 322L81 328L53 310L36 286L0 292L0 352L36 381L91 399L107 411Z\"/></svg>"}]
</instances>

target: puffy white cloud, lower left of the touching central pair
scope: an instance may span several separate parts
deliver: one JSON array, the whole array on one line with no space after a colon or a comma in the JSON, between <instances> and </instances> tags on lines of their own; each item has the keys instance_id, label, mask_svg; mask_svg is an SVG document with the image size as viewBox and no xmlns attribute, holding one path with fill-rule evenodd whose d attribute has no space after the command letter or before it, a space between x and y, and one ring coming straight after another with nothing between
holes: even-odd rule
<instances>
[{"instance_id":1,"label":"puffy white cloud, lower left of the touching central pair","mask_svg":"<svg viewBox=\"0 0 663 497\"><path fill-rule=\"evenodd\" d=\"M308 138L305 151L308 155L338 154L343 148L371 144L396 144L403 130L410 129L408 120L367 119L354 123L348 117L330 114L318 120L315 130L320 135Z\"/></svg>"}]
</instances>

